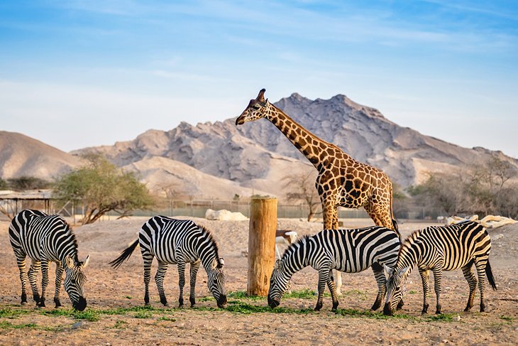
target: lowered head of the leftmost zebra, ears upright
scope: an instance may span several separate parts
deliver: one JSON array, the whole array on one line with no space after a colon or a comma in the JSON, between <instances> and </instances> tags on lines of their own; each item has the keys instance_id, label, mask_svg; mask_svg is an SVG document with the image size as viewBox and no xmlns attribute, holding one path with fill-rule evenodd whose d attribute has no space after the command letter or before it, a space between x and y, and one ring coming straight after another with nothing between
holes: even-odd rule
<instances>
[{"instance_id":1,"label":"lowered head of the leftmost zebra, ears upright","mask_svg":"<svg viewBox=\"0 0 518 346\"><path fill-rule=\"evenodd\" d=\"M65 281L63 286L72 301L72 306L79 311L87 308L87 300L83 295L84 282L87 276L84 275L83 269L88 265L90 256L84 262L76 262L71 256L65 257Z\"/></svg>"}]
</instances>

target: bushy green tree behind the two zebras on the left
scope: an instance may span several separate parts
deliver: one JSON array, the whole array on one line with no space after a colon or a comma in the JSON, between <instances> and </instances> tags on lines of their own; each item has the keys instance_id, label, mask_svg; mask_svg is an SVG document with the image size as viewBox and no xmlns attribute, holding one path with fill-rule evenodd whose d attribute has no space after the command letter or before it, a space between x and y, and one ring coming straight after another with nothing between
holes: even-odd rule
<instances>
[{"instance_id":1,"label":"bushy green tree behind the two zebras on the left","mask_svg":"<svg viewBox=\"0 0 518 346\"><path fill-rule=\"evenodd\" d=\"M63 204L72 201L84 205L82 225L99 220L106 212L117 212L121 218L155 204L134 173L121 170L99 155L84 158L87 165L62 175L53 189L53 197Z\"/></svg>"}]
</instances>

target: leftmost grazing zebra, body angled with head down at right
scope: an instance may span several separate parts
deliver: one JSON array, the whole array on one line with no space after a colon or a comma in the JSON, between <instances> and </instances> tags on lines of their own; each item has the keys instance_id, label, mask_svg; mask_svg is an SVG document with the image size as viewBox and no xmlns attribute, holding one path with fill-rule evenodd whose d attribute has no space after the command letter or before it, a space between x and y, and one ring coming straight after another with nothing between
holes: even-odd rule
<instances>
[{"instance_id":1,"label":"leftmost grazing zebra, body angled with head down at right","mask_svg":"<svg viewBox=\"0 0 518 346\"><path fill-rule=\"evenodd\" d=\"M9 225L9 239L13 247L20 271L21 304L27 304L26 283L31 283L36 306L45 307L45 291L48 286L49 262L56 262L55 308L61 306L60 288L65 271L63 286L72 301L72 306L79 311L87 308L83 287L86 281L83 269L88 265L90 256L85 261L77 257L77 240L72 229L59 215L47 215L38 210L19 212ZM32 260L26 272L26 257ZM38 293L36 274L41 268L41 296Z\"/></svg>"}]
</instances>

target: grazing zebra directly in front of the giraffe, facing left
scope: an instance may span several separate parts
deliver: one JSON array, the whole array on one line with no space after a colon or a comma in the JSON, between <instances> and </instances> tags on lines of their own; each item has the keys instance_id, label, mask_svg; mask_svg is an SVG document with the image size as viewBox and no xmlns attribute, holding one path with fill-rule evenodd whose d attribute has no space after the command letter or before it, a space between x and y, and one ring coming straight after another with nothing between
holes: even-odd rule
<instances>
[{"instance_id":1,"label":"grazing zebra directly in front of the giraffe, facing left","mask_svg":"<svg viewBox=\"0 0 518 346\"><path fill-rule=\"evenodd\" d=\"M324 229L312 237L301 237L275 262L270 277L268 305L270 308L279 306L292 275L306 266L312 266L319 271L319 296L314 310L322 308L326 284L333 299L332 310L336 310L338 298L331 270L358 273L371 266L378 282L378 296L371 309L377 310L385 296L386 278L383 264L395 266L398 252L398 234L392 229L380 226Z\"/></svg>"}]
</instances>

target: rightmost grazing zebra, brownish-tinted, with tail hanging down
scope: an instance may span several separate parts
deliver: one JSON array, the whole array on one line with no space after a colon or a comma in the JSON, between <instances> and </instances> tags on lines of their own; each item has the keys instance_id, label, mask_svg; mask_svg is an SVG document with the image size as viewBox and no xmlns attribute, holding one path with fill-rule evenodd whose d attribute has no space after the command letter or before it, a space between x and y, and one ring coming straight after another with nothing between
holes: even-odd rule
<instances>
[{"instance_id":1,"label":"rightmost grazing zebra, brownish-tinted, with tail hanging down","mask_svg":"<svg viewBox=\"0 0 518 346\"><path fill-rule=\"evenodd\" d=\"M491 287L496 290L489 263L491 239L485 228L478 222L466 221L456 225L432 226L414 231L404 240L396 266L389 270L387 280L387 300L383 313L392 315L395 302L404 295L402 283L417 265L423 284L423 310L427 313L427 298L430 294L429 271L434 273L436 293L436 313L441 313L441 276L443 271L451 271L461 268L470 287L468 304L464 311L469 311L473 306L477 279L471 271L475 264L478 274L478 287L480 288L480 312L485 310L484 288L487 275Z\"/></svg>"}]
</instances>

